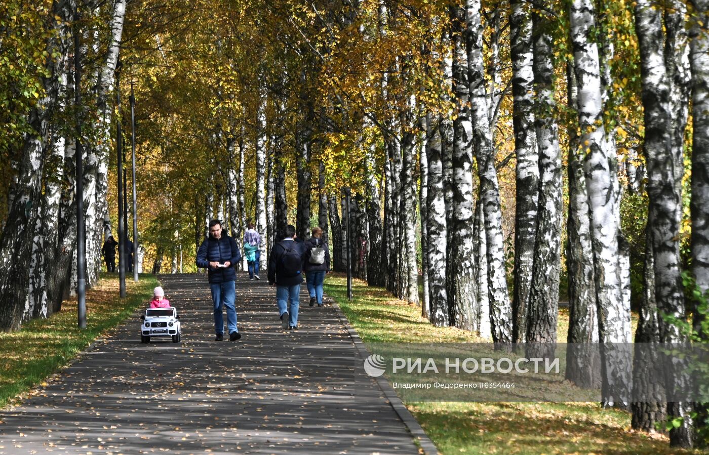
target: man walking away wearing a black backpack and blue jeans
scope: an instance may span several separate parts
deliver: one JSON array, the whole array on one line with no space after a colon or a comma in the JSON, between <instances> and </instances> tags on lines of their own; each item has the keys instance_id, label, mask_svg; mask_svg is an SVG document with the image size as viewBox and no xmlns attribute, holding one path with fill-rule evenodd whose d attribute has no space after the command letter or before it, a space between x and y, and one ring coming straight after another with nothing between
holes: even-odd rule
<instances>
[{"instance_id":1,"label":"man walking away wearing a black backpack and blue jeans","mask_svg":"<svg viewBox=\"0 0 709 455\"><path fill-rule=\"evenodd\" d=\"M281 327L298 330L298 307L303 283L305 244L296 242L296 228L286 226L284 239L273 246L268 263L268 282L276 286Z\"/></svg>"}]
</instances>

